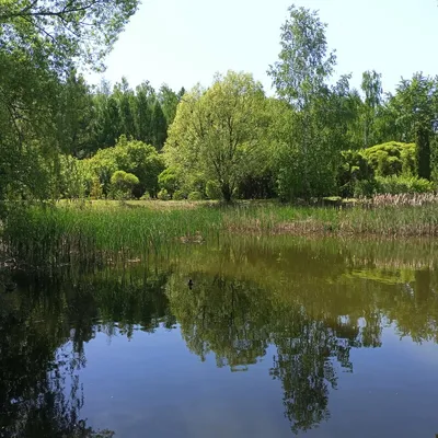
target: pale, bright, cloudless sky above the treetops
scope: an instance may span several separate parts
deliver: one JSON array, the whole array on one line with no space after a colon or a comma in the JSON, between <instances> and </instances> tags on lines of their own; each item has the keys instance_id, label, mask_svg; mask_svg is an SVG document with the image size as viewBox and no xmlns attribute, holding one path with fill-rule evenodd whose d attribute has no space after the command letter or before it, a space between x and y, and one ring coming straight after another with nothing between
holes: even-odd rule
<instances>
[{"instance_id":1,"label":"pale, bright, cloudless sky above the treetops","mask_svg":"<svg viewBox=\"0 0 438 438\"><path fill-rule=\"evenodd\" d=\"M252 72L270 94L268 66L279 53L279 27L292 0L143 0L113 53L105 79L125 76L159 88L211 83L215 72ZM383 74L384 91L416 71L438 74L437 0L296 0L319 10L336 49L336 74ZM90 76L97 83L101 77Z\"/></svg>"}]
</instances>

